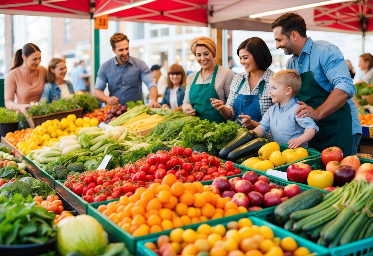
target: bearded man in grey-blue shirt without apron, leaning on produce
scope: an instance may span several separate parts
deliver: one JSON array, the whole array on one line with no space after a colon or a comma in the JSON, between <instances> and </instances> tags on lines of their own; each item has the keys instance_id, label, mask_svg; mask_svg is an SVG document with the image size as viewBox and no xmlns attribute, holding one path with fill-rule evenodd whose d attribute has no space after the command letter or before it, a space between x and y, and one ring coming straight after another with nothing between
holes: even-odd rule
<instances>
[{"instance_id":1,"label":"bearded man in grey-blue shirt without apron, leaning on produce","mask_svg":"<svg viewBox=\"0 0 373 256\"><path fill-rule=\"evenodd\" d=\"M143 100L141 81L149 89L151 103L149 107L160 107L158 104L157 84L153 81L151 71L140 59L129 56L129 40L122 33L115 33L110 38L115 57L105 62L98 69L95 96L109 105L122 104L133 100ZM109 96L103 91L109 86Z\"/></svg>"}]
</instances>

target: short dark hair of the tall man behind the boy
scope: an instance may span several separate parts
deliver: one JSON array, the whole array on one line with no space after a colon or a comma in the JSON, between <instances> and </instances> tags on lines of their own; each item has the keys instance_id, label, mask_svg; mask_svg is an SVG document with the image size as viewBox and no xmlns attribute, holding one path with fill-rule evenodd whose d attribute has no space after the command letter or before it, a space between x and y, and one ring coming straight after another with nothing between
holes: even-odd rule
<instances>
[{"instance_id":1,"label":"short dark hair of the tall man behind the boy","mask_svg":"<svg viewBox=\"0 0 373 256\"><path fill-rule=\"evenodd\" d=\"M302 16L297 13L288 12L281 15L271 24L272 29L276 26L282 27L281 34L285 35L287 38L290 38L290 34L294 30L297 31L301 37L307 37L305 21Z\"/></svg>"}]
</instances>

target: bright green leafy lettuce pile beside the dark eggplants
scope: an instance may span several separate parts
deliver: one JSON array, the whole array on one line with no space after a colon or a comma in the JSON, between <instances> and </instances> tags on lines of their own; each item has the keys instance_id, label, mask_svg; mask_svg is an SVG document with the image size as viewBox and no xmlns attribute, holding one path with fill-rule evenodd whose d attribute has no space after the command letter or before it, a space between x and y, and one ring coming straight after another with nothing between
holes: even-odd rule
<instances>
[{"instance_id":1,"label":"bright green leafy lettuce pile beside the dark eggplants","mask_svg":"<svg viewBox=\"0 0 373 256\"><path fill-rule=\"evenodd\" d=\"M238 134L239 125L230 120L227 123L210 123L207 119L185 124L180 135L184 147L201 144L207 147L208 153L217 155L229 141Z\"/></svg>"}]
</instances>

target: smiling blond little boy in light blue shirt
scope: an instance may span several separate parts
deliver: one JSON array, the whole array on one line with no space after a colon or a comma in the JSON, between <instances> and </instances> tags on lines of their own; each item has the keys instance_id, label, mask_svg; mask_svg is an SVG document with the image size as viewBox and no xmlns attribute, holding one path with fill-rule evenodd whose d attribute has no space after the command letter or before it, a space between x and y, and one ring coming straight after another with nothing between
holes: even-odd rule
<instances>
[{"instance_id":1,"label":"smiling blond little boy in light blue shirt","mask_svg":"<svg viewBox=\"0 0 373 256\"><path fill-rule=\"evenodd\" d=\"M299 104L295 100L301 88L301 78L294 69L282 70L269 80L269 95L275 105L271 106L253 131L263 137L271 130L273 141L289 144L289 148L307 147L319 127L312 118L297 118L295 110Z\"/></svg>"}]
</instances>

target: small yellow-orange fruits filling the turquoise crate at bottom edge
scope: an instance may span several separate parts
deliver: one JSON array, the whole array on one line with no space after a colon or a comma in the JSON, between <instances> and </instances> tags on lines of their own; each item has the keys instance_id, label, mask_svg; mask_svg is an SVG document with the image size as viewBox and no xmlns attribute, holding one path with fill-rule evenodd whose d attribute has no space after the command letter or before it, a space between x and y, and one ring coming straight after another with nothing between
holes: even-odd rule
<instances>
[{"instance_id":1,"label":"small yellow-orange fruits filling the turquoise crate at bottom edge","mask_svg":"<svg viewBox=\"0 0 373 256\"><path fill-rule=\"evenodd\" d=\"M213 227L201 224L197 230L176 228L145 246L160 256L311 255L308 248L298 247L294 238L275 237L271 228L253 225L248 218Z\"/></svg>"}]
</instances>

